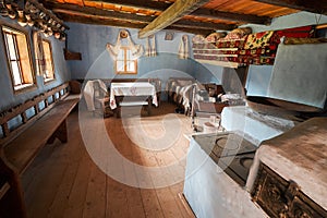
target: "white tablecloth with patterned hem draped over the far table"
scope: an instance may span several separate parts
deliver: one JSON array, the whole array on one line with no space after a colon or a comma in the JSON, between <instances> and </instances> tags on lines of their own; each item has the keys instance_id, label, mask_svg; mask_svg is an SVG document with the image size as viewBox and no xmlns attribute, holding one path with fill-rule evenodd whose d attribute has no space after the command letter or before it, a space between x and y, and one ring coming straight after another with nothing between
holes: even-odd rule
<instances>
[{"instance_id":1,"label":"white tablecloth with patterned hem draped over the far table","mask_svg":"<svg viewBox=\"0 0 327 218\"><path fill-rule=\"evenodd\" d=\"M111 83L110 87L110 107L117 108L116 96L152 96L153 104L158 106L156 88L147 82L135 83Z\"/></svg>"}]
</instances>

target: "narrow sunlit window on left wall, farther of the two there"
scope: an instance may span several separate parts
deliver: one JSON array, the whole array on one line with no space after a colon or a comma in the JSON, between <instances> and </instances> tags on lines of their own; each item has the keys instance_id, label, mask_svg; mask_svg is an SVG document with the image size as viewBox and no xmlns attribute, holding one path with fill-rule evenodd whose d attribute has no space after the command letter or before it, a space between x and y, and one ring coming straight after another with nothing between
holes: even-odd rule
<instances>
[{"instance_id":1,"label":"narrow sunlit window on left wall, farther of the two there","mask_svg":"<svg viewBox=\"0 0 327 218\"><path fill-rule=\"evenodd\" d=\"M43 49L44 49L44 60L45 60L44 78L45 82L48 82L55 78L52 50L51 50L50 41L43 39Z\"/></svg>"}]
</instances>

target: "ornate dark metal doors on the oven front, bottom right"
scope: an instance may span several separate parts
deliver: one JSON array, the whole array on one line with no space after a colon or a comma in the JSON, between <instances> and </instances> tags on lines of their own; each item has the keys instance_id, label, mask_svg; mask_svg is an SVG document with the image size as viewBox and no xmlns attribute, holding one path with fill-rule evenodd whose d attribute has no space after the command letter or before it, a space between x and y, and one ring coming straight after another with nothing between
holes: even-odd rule
<instances>
[{"instance_id":1,"label":"ornate dark metal doors on the oven front, bottom right","mask_svg":"<svg viewBox=\"0 0 327 218\"><path fill-rule=\"evenodd\" d=\"M261 164L252 197L270 217L327 217L327 211L306 196L295 182L286 181L264 164Z\"/></svg>"}]
</instances>

